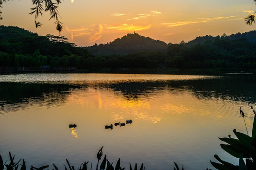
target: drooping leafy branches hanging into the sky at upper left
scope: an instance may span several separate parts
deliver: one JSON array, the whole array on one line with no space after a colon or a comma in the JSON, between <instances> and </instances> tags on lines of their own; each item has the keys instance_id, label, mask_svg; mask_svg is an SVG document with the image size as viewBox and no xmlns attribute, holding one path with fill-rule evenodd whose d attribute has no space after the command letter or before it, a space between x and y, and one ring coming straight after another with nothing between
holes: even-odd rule
<instances>
[{"instance_id":1,"label":"drooping leafy branches hanging into the sky at upper left","mask_svg":"<svg viewBox=\"0 0 256 170\"><path fill-rule=\"evenodd\" d=\"M0 0L0 7L2 8L3 2L6 2L7 0ZM9 0L8 0L9 1ZM55 1L55 2L53 2ZM54 24L56 24L56 30L60 33L63 29L63 24L59 21L59 13L58 13L58 5L61 3L61 0L32 0L33 5L35 5L34 8L30 8L31 12L29 14L35 15L35 25L36 27L41 26L42 24L37 21L37 18L39 15L43 16L43 11L50 12L50 20L55 19ZM1 11L0 11L0 20L3 18L1 17Z\"/></svg>"}]
</instances>

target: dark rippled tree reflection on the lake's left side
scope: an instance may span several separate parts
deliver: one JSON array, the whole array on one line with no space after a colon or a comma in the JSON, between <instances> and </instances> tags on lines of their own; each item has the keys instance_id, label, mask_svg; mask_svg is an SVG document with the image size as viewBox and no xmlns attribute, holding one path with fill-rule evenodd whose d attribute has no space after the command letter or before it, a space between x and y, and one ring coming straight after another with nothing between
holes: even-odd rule
<instances>
[{"instance_id":1,"label":"dark rippled tree reflection on the lake's left side","mask_svg":"<svg viewBox=\"0 0 256 170\"><path fill-rule=\"evenodd\" d=\"M0 111L38 105L63 104L74 85L0 83ZM8 106L8 107L6 107Z\"/></svg>"}]
</instances>

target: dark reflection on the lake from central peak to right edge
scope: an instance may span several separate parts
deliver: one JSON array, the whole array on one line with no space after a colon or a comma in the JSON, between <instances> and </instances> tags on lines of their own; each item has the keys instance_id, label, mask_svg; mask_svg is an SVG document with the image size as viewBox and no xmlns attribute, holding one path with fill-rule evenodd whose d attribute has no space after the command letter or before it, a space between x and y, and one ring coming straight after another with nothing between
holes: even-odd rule
<instances>
[{"instance_id":1,"label":"dark reflection on the lake from central peak to right edge","mask_svg":"<svg viewBox=\"0 0 256 170\"><path fill-rule=\"evenodd\" d=\"M109 87L114 91L120 91L128 100L137 100L167 87L173 93L188 90L198 98L214 97L222 100L255 102L255 82L254 75L232 75L217 79L117 83Z\"/></svg>"}]
</instances>

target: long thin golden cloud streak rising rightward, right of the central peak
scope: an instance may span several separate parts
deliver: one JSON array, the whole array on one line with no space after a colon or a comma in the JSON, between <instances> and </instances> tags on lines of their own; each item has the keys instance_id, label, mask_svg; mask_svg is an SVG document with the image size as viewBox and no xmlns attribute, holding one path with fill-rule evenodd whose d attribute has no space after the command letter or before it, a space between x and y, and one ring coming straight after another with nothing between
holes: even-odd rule
<instances>
[{"instance_id":1,"label":"long thin golden cloud streak rising rightward, right of the central peak","mask_svg":"<svg viewBox=\"0 0 256 170\"><path fill-rule=\"evenodd\" d=\"M209 22L212 20L220 20L220 19L228 19L230 18L236 19L237 16L229 16L229 17L213 17L213 18L199 18L199 20L196 21L183 21L183 22L175 22L175 23L162 23L162 25L165 25L167 27L171 26L184 26L188 24L196 24L196 23L204 23L204 22Z\"/></svg>"}]
</instances>

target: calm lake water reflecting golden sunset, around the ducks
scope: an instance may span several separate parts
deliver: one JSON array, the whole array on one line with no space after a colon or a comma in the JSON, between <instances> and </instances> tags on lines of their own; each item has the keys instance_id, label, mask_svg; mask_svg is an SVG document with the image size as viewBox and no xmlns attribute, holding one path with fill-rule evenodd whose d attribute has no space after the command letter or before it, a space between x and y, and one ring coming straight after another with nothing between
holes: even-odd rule
<instances>
[{"instance_id":1,"label":"calm lake water reflecting golden sunset, around the ducks","mask_svg":"<svg viewBox=\"0 0 256 170\"><path fill-rule=\"evenodd\" d=\"M246 133L239 107L251 133L255 89L255 75L0 76L0 154L5 161L10 151L27 167L55 163L60 169L68 159L75 167L92 162L95 170L101 146L114 165L121 157L125 169L137 162L170 170L173 161L185 170L213 169L214 154L238 164L218 137L234 137L234 128Z\"/></svg>"}]
</instances>

